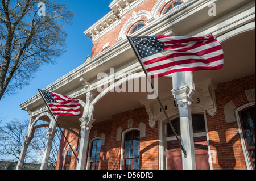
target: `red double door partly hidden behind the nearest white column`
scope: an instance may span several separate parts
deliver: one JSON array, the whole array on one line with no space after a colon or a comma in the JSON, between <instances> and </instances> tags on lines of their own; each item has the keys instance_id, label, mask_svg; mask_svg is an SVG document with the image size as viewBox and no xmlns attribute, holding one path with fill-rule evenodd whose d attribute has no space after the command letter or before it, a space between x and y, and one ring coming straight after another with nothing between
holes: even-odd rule
<instances>
[{"instance_id":1,"label":"red double door partly hidden behind the nearest white column","mask_svg":"<svg viewBox=\"0 0 256 181\"><path fill-rule=\"evenodd\" d=\"M208 149L206 137L194 138L195 156L196 156L196 169L209 170L210 165L208 162ZM182 155L181 149L177 141L168 141L168 169L169 170L182 170Z\"/></svg>"}]
</instances>

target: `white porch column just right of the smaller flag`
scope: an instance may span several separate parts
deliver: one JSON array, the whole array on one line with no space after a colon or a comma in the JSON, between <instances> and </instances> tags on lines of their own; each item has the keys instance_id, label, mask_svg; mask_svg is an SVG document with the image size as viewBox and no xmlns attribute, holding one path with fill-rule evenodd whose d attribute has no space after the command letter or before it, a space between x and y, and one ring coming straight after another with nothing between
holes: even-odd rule
<instances>
[{"instance_id":1,"label":"white porch column just right of the smaller flag","mask_svg":"<svg viewBox=\"0 0 256 181\"><path fill-rule=\"evenodd\" d=\"M89 133L92 128L93 119L93 109L94 106L90 104L95 96L95 92L88 92L86 94L86 103L84 107L84 113L80 118L81 121L81 138L79 144L79 161L77 162L76 170L85 169L85 159L87 154L87 147L89 141Z\"/></svg>"}]
</instances>

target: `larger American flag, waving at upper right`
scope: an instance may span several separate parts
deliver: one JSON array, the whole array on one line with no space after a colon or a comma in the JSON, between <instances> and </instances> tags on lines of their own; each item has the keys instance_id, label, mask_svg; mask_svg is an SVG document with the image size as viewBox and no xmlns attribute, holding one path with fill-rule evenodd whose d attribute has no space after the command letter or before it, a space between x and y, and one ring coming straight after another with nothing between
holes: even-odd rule
<instances>
[{"instance_id":1,"label":"larger American flag, waving at upper right","mask_svg":"<svg viewBox=\"0 0 256 181\"><path fill-rule=\"evenodd\" d=\"M212 35L129 38L151 78L179 71L216 70L224 64L221 45Z\"/></svg>"}]
</instances>

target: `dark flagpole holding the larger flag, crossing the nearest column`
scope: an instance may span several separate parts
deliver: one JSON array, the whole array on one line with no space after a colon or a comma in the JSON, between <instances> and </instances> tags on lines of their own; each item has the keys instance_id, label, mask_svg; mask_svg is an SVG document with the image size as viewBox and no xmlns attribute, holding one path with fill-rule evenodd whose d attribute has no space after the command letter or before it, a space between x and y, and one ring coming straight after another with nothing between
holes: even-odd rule
<instances>
[{"instance_id":1,"label":"dark flagpole holding the larger flag, crossing the nearest column","mask_svg":"<svg viewBox=\"0 0 256 181\"><path fill-rule=\"evenodd\" d=\"M161 100L159 99L159 96L158 96L158 94L156 93L156 91L155 91L155 89L154 89L154 86L152 85L152 82L150 81L150 78L149 78L148 75L147 75L147 71L146 71L146 69L144 68L144 65L142 64L141 57L138 56L139 53L137 52L137 49L134 48L135 45L133 44L133 41L131 41L131 39L130 39L130 37L129 37L128 35L126 35L126 37L127 37L128 41L129 41L131 47L133 48L133 51L134 51L136 57L137 57L138 60L139 60L139 64L141 64L141 67L142 67L144 73L146 74L147 80L151 83L151 87L152 87L152 89L153 89L153 91L154 91L154 94L156 95L156 99L158 99L158 102L159 102L159 104L160 104L160 107L162 108L162 110L163 110L163 112L164 112L164 115L166 116L166 119L168 120L168 123L169 123L169 125L170 125L170 127L171 127L171 129L172 129L172 132L174 132L175 137L176 137L176 139L177 139L177 141L178 141L178 143L179 143L179 146L180 146L181 150L182 150L183 153L184 153L184 157L186 158L186 157L187 157L187 152L186 152L186 150L184 149L183 145L181 145L181 142L180 142L180 140L179 140L179 137L177 136L177 133L176 133L174 127L172 126L172 123L171 123L171 121L170 121L170 119L169 119L169 117L168 117L168 115L167 115L167 113L166 113L166 110L164 109L163 104L162 104Z\"/></svg>"}]
</instances>

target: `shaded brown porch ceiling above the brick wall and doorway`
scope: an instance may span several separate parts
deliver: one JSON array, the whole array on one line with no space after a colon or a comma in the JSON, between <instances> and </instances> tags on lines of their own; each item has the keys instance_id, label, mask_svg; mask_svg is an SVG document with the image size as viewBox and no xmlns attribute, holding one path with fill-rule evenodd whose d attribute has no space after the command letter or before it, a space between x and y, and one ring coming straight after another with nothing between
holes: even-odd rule
<instances>
[{"instance_id":1,"label":"shaded brown porch ceiling above the brick wall and doorway","mask_svg":"<svg viewBox=\"0 0 256 181\"><path fill-rule=\"evenodd\" d=\"M221 46L224 50L224 67L220 70L194 71L195 84L210 78L219 84L255 74L255 30L237 35ZM171 90L171 77L159 78L159 97L168 93L171 97ZM96 121L103 121L116 113L141 107L140 101L146 100L147 95L148 93L109 93L96 104L94 118Z\"/></svg>"}]
</instances>

